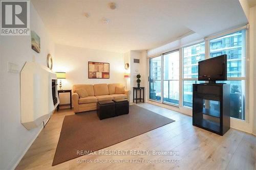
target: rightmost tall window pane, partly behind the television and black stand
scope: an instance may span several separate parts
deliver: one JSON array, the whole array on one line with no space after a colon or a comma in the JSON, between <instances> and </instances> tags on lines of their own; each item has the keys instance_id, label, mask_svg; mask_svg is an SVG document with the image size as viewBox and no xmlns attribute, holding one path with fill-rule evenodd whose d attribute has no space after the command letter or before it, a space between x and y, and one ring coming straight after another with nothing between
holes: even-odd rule
<instances>
[{"instance_id":1,"label":"rightmost tall window pane, partly behind the television and black stand","mask_svg":"<svg viewBox=\"0 0 256 170\"><path fill-rule=\"evenodd\" d=\"M210 57L227 55L227 78L230 84L230 116L245 120L246 32L241 30L209 41ZM215 103L211 103L215 105Z\"/></svg>"}]
</instances>

